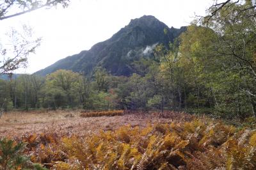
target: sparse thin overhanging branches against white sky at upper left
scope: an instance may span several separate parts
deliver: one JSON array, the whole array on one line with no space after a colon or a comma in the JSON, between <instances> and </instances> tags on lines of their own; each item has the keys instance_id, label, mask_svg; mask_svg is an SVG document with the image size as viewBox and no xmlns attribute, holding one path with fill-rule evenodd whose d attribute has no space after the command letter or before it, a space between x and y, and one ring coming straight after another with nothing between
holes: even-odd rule
<instances>
[{"instance_id":1,"label":"sparse thin overhanging branches against white sky at upper left","mask_svg":"<svg viewBox=\"0 0 256 170\"><path fill-rule=\"evenodd\" d=\"M67 7L69 0L4 0L0 3L0 20L9 19L24 13L31 12L40 8L49 8L62 4ZM16 13L13 13L16 11ZM27 65L27 56L35 52L40 45L40 38L33 38L31 28L23 26L24 33L12 29L8 43L0 43L0 75L10 73L17 68ZM12 47L8 46L12 44Z\"/></svg>"}]
</instances>

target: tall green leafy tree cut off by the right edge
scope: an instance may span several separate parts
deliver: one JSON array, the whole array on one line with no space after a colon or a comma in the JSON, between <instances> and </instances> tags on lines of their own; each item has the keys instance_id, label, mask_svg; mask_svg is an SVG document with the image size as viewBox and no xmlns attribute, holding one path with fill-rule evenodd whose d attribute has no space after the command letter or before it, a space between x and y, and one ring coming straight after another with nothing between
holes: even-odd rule
<instances>
[{"instance_id":1,"label":"tall green leafy tree cut off by the right edge","mask_svg":"<svg viewBox=\"0 0 256 170\"><path fill-rule=\"evenodd\" d=\"M238 96L245 95L256 116L255 7L255 1L228 3L228 6L218 10L205 26L218 34L218 43L215 43L216 54L228 59L228 64L223 66L225 72L232 72L237 75L237 79L241 79L237 84Z\"/></svg>"}]
</instances>

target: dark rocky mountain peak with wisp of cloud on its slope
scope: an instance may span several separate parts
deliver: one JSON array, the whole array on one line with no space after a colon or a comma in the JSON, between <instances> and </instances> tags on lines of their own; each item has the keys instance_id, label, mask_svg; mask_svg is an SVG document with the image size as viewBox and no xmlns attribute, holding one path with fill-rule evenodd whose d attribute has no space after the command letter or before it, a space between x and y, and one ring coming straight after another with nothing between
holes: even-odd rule
<instances>
[{"instance_id":1,"label":"dark rocky mountain peak with wisp of cloud on its slope","mask_svg":"<svg viewBox=\"0 0 256 170\"><path fill-rule=\"evenodd\" d=\"M93 45L90 50L61 59L35 74L45 76L59 69L90 73L96 66L102 66L112 75L131 75L133 61L152 55L157 44L167 46L185 30L186 27L169 28L154 16L144 15L132 19L111 38Z\"/></svg>"}]
</instances>

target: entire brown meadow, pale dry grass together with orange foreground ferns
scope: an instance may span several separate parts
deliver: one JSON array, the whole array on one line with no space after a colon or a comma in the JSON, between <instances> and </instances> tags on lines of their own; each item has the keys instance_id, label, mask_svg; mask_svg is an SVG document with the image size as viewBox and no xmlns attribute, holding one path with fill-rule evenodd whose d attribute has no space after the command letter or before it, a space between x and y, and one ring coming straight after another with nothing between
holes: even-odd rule
<instances>
[{"instance_id":1,"label":"entire brown meadow, pale dry grass together with orange foreground ferns","mask_svg":"<svg viewBox=\"0 0 256 170\"><path fill-rule=\"evenodd\" d=\"M255 130L239 130L183 112L129 112L90 118L80 114L28 112L19 121L18 113L5 114L0 123L10 122L1 136L26 143L23 153L49 169L256 167Z\"/></svg>"}]
</instances>

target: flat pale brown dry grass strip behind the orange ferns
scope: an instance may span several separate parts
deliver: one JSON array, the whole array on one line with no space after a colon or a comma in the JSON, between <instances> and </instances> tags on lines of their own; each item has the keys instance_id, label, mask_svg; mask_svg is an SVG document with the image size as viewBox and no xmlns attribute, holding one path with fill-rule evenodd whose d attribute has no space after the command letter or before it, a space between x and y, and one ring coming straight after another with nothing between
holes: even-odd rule
<instances>
[{"instance_id":1,"label":"flat pale brown dry grass strip behind the orange ferns","mask_svg":"<svg viewBox=\"0 0 256 170\"><path fill-rule=\"evenodd\" d=\"M57 133L80 136L99 130L115 130L124 125L145 127L148 123L169 123L194 117L179 112L128 112L121 116L81 118L81 111L7 112L0 119L0 137L21 137L26 134Z\"/></svg>"}]
</instances>

